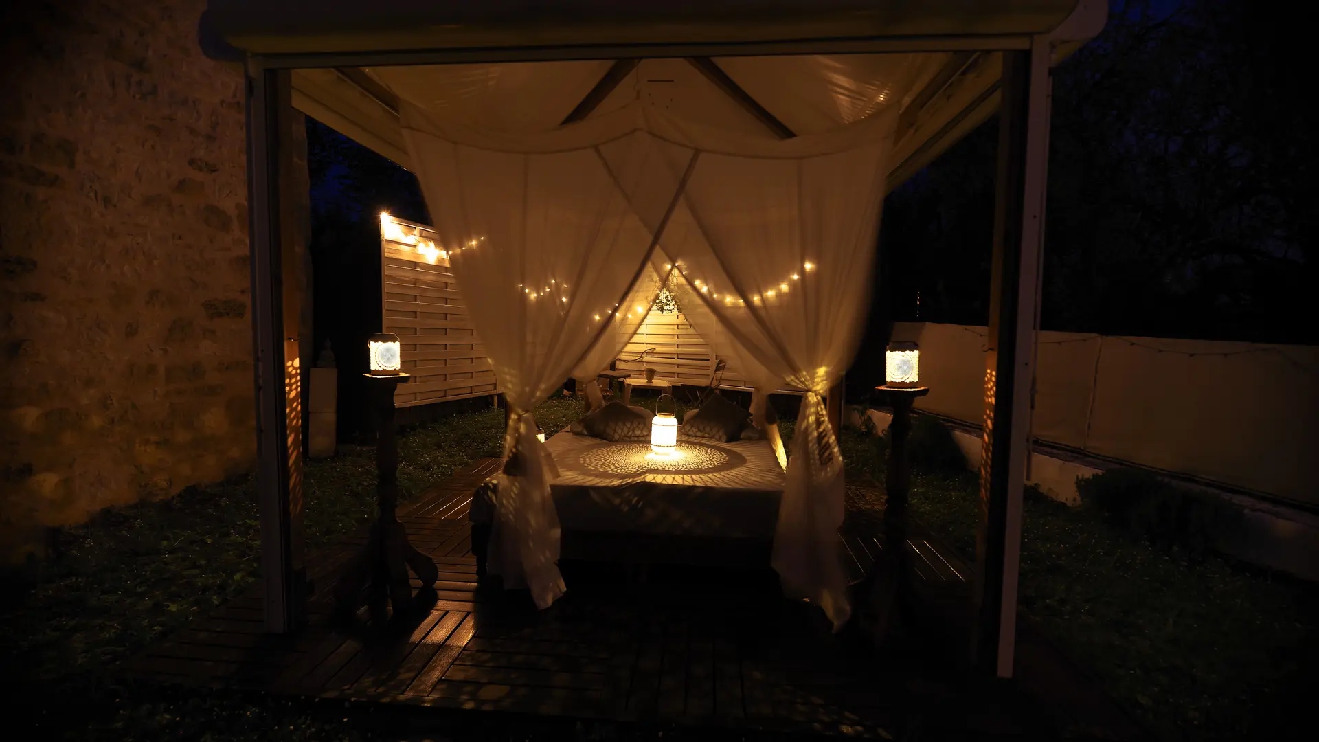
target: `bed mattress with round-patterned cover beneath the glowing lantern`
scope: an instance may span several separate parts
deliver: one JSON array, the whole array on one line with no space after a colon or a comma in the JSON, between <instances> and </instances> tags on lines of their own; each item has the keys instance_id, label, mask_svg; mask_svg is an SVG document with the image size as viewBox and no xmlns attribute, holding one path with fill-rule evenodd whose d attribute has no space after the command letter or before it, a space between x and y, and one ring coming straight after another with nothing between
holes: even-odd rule
<instances>
[{"instance_id":1,"label":"bed mattress with round-patterned cover beneath the glowing lantern","mask_svg":"<svg viewBox=\"0 0 1319 742\"><path fill-rule=\"evenodd\" d=\"M550 485L565 531L770 539L786 477L768 441L692 442L694 455L641 461L645 445L563 430L545 445L559 478ZM619 454L619 455L615 455ZM695 458L698 470L679 470Z\"/></svg>"}]
</instances>

